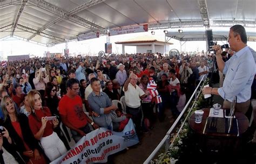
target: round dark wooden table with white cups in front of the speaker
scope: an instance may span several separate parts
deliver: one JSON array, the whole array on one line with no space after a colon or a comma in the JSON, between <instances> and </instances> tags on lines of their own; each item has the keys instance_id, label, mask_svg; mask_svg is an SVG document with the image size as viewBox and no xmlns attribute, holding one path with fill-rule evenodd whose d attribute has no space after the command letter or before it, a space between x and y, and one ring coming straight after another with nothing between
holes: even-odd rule
<instances>
[{"instance_id":1,"label":"round dark wooden table with white cups in front of the speaker","mask_svg":"<svg viewBox=\"0 0 256 164\"><path fill-rule=\"evenodd\" d=\"M210 113L210 108L205 108L205 109L201 109L201 110L204 111L204 115L203 115L201 123L194 122L194 119L195 119L194 113L190 116L190 119L189 119L189 124L190 124L191 129L193 129L196 133L199 133L199 134L203 134L205 123L206 123L206 120ZM223 110L223 112L224 111L225 111L225 109ZM223 113L223 116L225 116L225 113ZM239 134L241 135L248 129L249 121L248 121L248 118L244 115L244 113L241 113L241 112L235 112L235 117L238 120ZM217 134L217 133L216 134L203 134L203 135L229 137L229 135L227 135L227 134Z\"/></svg>"}]
</instances>

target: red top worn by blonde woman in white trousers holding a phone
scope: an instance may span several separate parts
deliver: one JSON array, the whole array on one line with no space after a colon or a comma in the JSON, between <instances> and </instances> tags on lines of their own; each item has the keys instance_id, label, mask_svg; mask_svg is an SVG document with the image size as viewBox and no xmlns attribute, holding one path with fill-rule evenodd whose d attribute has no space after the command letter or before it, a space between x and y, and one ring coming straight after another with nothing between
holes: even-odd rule
<instances>
[{"instance_id":1,"label":"red top worn by blonde woman in white trousers holding a phone","mask_svg":"<svg viewBox=\"0 0 256 164\"><path fill-rule=\"evenodd\" d=\"M44 110L44 112L42 110ZM29 126L34 135L39 131L39 129L42 126L41 118L46 117L46 116L48 116L48 117L51 116L51 112L50 112L49 108L47 108L47 107L43 107L43 109L41 109L41 110L35 110L35 113L36 113L37 118L40 121L38 121L32 115L32 113L29 115ZM44 129L44 133L43 133L42 137L50 136L52 133L53 133L53 123L52 123L52 120L50 120L46 123L46 127Z\"/></svg>"}]
</instances>

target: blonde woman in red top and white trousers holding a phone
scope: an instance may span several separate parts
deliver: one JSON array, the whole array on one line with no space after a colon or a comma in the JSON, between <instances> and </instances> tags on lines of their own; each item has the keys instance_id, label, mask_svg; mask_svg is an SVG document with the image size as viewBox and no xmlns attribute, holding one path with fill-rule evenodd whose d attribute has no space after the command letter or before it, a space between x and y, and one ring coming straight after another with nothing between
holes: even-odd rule
<instances>
[{"instance_id":1,"label":"blonde woman in red top and white trousers holding a phone","mask_svg":"<svg viewBox=\"0 0 256 164\"><path fill-rule=\"evenodd\" d=\"M57 159L67 152L62 140L53 132L58 126L58 119L49 120L52 116L49 108L42 107L41 95L36 90L28 94L29 103L32 109L29 115L29 126L37 140L40 140L44 153L50 161Z\"/></svg>"}]
</instances>

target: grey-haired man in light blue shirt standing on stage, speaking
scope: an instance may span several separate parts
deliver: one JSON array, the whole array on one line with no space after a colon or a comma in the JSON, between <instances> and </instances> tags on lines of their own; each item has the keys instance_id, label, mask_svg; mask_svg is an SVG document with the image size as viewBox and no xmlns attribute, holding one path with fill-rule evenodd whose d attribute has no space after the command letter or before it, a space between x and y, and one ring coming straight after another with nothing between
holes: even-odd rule
<instances>
[{"instance_id":1,"label":"grey-haired man in light blue shirt standing on stage, speaking","mask_svg":"<svg viewBox=\"0 0 256 164\"><path fill-rule=\"evenodd\" d=\"M236 52L230 60L224 62L221 56L222 49L215 45L216 59L219 70L226 77L221 88L205 87L203 94L220 95L225 99L223 108L231 108L231 102L237 96L235 110L246 113L250 106L251 85L255 74L255 62L250 48L247 47L245 28L234 25L230 28L228 42L232 51Z\"/></svg>"}]
</instances>

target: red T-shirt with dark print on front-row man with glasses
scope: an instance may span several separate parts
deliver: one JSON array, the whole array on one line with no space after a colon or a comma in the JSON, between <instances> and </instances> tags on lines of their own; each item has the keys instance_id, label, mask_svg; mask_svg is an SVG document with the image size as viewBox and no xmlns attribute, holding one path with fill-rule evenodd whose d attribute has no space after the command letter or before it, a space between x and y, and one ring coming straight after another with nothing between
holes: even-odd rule
<instances>
[{"instance_id":1,"label":"red T-shirt with dark print on front-row man with glasses","mask_svg":"<svg viewBox=\"0 0 256 164\"><path fill-rule=\"evenodd\" d=\"M87 124L82 98L78 95L74 98L64 95L59 101L59 114L66 116L68 122L76 128L84 127Z\"/></svg>"}]
</instances>

